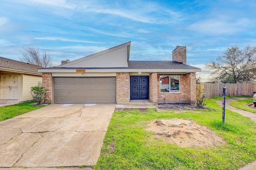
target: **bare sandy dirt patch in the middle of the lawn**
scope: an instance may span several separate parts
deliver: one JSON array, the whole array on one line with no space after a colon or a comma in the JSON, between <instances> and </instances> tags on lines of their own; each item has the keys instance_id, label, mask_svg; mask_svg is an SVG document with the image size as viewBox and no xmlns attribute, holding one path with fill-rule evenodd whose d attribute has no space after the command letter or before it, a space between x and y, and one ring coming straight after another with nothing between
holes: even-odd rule
<instances>
[{"instance_id":1,"label":"bare sandy dirt patch in the middle of the lawn","mask_svg":"<svg viewBox=\"0 0 256 170\"><path fill-rule=\"evenodd\" d=\"M192 119L156 120L148 125L147 130L154 132L157 138L180 147L208 148L226 143L216 133Z\"/></svg>"}]
</instances>

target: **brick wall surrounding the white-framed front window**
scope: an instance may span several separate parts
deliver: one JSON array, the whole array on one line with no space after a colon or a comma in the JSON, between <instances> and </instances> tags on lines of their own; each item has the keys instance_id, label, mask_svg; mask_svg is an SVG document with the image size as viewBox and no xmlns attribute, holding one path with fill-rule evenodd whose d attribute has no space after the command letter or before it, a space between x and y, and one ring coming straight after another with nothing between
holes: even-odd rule
<instances>
[{"instance_id":1,"label":"brick wall surrounding the white-framed front window","mask_svg":"<svg viewBox=\"0 0 256 170\"><path fill-rule=\"evenodd\" d=\"M160 93L160 76L180 76L180 93ZM196 102L196 73L188 74L157 74L158 103L188 103Z\"/></svg>"}]
</instances>

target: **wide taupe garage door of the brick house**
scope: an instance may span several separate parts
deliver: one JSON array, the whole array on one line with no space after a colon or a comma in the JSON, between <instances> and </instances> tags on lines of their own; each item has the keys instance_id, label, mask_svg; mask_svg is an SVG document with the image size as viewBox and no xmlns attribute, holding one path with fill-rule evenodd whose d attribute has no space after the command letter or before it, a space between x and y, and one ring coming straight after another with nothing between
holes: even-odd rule
<instances>
[{"instance_id":1,"label":"wide taupe garage door of the brick house","mask_svg":"<svg viewBox=\"0 0 256 170\"><path fill-rule=\"evenodd\" d=\"M116 103L116 77L54 77L54 103Z\"/></svg>"}]
</instances>

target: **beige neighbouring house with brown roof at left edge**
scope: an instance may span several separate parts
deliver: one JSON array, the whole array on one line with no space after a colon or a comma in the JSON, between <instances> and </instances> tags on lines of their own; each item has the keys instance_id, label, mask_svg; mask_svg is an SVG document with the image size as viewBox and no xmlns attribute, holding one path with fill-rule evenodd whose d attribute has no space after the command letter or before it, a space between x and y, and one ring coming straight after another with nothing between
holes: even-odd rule
<instances>
[{"instance_id":1,"label":"beige neighbouring house with brown roof at left edge","mask_svg":"<svg viewBox=\"0 0 256 170\"><path fill-rule=\"evenodd\" d=\"M42 82L36 66L0 57L0 104L17 104L33 100L30 87Z\"/></svg>"}]
</instances>

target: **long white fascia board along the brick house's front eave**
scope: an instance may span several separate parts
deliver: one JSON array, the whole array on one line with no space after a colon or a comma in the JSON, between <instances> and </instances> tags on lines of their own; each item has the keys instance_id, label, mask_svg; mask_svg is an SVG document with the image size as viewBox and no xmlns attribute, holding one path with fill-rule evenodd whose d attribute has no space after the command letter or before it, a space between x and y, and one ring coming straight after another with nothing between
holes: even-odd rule
<instances>
[{"instance_id":1,"label":"long white fascia board along the brick house's front eave","mask_svg":"<svg viewBox=\"0 0 256 170\"><path fill-rule=\"evenodd\" d=\"M80 68L79 68L80 69ZM38 72L76 72L76 69L40 69ZM85 72L201 72L201 69L85 69Z\"/></svg>"}]
</instances>

